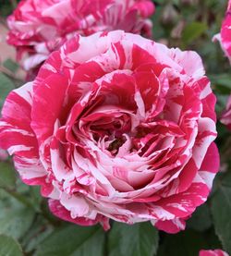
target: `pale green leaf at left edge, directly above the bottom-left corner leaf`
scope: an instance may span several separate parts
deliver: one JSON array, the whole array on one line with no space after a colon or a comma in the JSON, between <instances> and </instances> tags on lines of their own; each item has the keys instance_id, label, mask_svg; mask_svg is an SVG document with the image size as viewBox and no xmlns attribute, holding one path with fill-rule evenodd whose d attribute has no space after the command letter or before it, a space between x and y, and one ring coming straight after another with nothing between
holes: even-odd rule
<instances>
[{"instance_id":1,"label":"pale green leaf at left edge, directly above the bottom-left corner leaf","mask_svg":"<svg viewBox=\"0 0 231 256\"><path fill-rule=\"evenodd\" d=\"M34 212L2 189L0 196L0 233L21 238L33 221Z\"/></svg>"}]
</instances>

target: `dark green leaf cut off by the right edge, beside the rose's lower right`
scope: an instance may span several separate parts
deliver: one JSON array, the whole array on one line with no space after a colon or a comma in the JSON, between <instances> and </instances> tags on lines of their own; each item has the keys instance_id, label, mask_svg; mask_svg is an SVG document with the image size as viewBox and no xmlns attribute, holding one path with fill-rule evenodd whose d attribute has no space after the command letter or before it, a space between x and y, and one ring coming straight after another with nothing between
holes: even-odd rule
<instances>
[{"instance_id":1,"label":"dark green leaf cut off by the right edge, beside the rose's lower right","mask_svg":"<svg viewBox=\"0 0 231 256\"><path fill-rule=\"evenodd\" d=\"M212 198L213 222L224 249L231 253L231 173L217 178L219 180Z\"/></svg>"}]
</instances>

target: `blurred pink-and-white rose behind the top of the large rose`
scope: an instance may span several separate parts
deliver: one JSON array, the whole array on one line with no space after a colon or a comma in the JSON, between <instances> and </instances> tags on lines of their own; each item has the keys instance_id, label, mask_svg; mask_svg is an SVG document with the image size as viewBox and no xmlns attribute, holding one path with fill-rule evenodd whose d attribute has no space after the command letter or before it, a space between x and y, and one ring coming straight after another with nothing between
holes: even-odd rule
<instances>
[{"instance_id":1,"label":"blurred pink-and-white rose behind the top of the large rose","mask_svg":"<svg viewBox=\"0 0 231 256\"><path fill-rule=\"evenodd\" d=\"M38 66L75 32L126 30L151 36L151 0L23 0L7 19L7 42L15 45L23 67L37 74Z\"/></svg>"}]
</instances>

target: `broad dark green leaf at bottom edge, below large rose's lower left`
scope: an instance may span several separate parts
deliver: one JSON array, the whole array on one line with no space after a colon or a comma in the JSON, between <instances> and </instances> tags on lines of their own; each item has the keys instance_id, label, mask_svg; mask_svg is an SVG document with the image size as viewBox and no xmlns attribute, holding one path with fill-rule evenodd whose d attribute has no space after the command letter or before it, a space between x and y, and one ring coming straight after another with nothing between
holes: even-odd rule
<instances>
[{"instance_id":1,"label":"broad dark green leaf at bottom edge, below large rose's lower left","mask_svg":"<svg viewBox=\"0 0 231 256\"><path fill-rule=\"evenodd\" d=\"M36 256L102 256L102 227L65 226L55 230L38 245Z\"/></svg>"}]
</instances>

